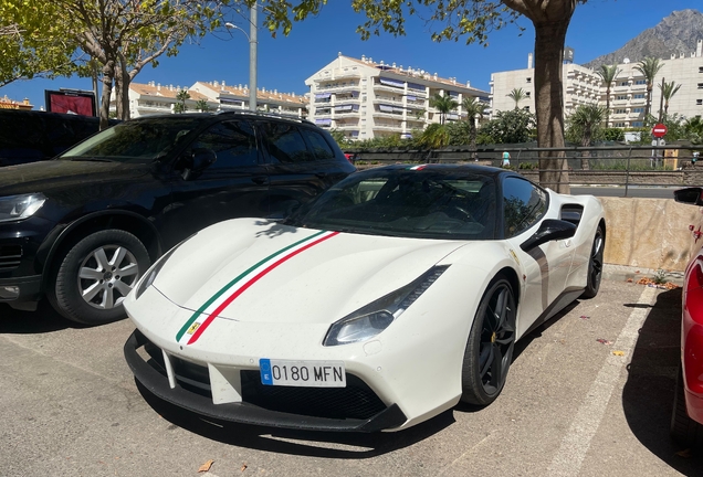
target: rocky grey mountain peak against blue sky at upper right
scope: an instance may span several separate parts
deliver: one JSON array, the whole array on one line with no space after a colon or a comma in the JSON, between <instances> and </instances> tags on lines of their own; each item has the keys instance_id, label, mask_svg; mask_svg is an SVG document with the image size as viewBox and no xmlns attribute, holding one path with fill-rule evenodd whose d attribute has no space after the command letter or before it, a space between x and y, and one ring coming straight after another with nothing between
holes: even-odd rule
<instances>
[{"instance_id":1,"label":"rocky grey mountain peak against blue sky at upper right","mask_svg":"<svg viewBox=\"0 0 703 477\"><path fill-rule=\"evenodd\" d=\"M703 40L703 13L689 9L674 11L657 26L644 30L620 50L598 56L584 66L599 68L601 64L619 64L625 59L636 63L646 56L669 60L672 54L690 56L699 40Z\"/></svg>"}]
</instances>

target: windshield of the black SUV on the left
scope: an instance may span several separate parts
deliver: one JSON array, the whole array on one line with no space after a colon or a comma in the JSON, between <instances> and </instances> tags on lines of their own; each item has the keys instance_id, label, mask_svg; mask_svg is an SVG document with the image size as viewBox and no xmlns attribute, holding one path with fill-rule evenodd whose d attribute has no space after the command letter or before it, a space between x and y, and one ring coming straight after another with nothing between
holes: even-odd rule
<instances>
[{"instance_id":1,"label":"windshield of the black SUV on the left","mask_svg":"<svg viewBox=\"0 0 703 477\"><path fill-rule=\"evenodd\" d=\"M202 119L149 118L120 123L91 137L60 156L69 160L154 160L167 155Z\"/></svg>"}]
</instances>

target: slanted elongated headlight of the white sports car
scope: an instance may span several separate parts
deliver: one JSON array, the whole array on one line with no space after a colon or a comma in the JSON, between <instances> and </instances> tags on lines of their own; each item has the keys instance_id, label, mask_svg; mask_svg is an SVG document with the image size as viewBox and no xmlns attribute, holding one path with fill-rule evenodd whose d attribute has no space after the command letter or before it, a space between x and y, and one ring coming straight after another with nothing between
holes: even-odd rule
<instances>
[{"instance_id":1,"label":"slanted elongated headlight of the white sports car","mask_svg":"<svg viewBox=\"0 0 703 477\"><path fill-rule=\"evenodd\" d=\"M324 346L348 344L375 337L390 326L449 268L436 266L410 284L366 305L332 325Z\"/></svg>"}]
</instances>

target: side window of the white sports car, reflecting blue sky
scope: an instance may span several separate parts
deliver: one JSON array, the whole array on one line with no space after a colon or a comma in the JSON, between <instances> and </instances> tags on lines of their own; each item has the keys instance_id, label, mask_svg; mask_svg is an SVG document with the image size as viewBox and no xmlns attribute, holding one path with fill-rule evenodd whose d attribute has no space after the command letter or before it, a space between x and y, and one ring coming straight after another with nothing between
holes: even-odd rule
<instances>
[{"instance_id":1,"label":"side window of the white sports car, reflecting blue sky","mask_svg":"<svg viewBox=\"0 0 703 477\"><path fill-rule=\"evenodd\" d=\"M512 237L534 225L547 211L547 193L521 178L503 181L505 237Z\"/></svg>"}]
</instances>

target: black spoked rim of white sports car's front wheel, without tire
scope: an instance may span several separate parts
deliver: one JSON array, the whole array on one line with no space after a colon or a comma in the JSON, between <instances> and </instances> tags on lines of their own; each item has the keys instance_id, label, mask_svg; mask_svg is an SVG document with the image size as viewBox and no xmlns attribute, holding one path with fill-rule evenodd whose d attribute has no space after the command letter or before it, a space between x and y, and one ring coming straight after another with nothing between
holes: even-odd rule
<instances>
[{"instance_id":1,"label":"black spoked rim of white sports car's front wheel, without tire","mask_svg":"<svg viewBox=\"0 0 703 477\"><path fill-rule=\"evenodd\" d=\"M513 293L505 284L499 286L489 299L483 315L479 374L483 390L497 394L505 383L515 343L515 306Z\"/></svg>"}]
</instances>

